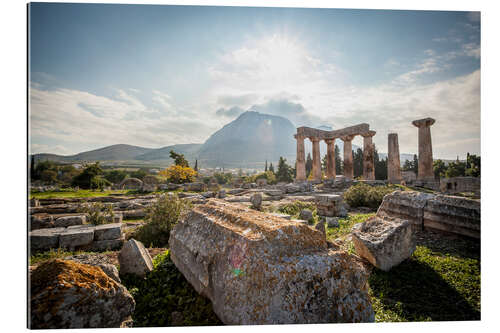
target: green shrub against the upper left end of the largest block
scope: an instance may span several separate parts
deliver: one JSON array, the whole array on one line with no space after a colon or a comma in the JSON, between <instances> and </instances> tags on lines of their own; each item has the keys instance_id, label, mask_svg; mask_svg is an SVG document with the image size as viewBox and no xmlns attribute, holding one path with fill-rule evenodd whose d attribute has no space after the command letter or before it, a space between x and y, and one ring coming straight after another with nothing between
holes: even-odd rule
<instances>
[{"instance_id":1,"label":"green shrub against the upper left end of the largest block","mask_svg":"<svg viewBox=\"0 0 500 333\"><path fill-rule=\"evenodd\" d=\"M190 208L191 203L179 199L177 194L160 195L153 205L146 208L146 224L138 228L133 237L146 245L166 246L170 230Z\"/></svg>"}]
</instances>

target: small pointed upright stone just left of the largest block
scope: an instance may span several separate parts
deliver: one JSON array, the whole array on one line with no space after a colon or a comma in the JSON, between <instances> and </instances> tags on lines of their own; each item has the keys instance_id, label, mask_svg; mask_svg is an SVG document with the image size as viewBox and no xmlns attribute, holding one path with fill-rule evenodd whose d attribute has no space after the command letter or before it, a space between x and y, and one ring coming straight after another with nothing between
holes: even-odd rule
<instances>
[{"instance_id":1,"label":"small pointed upright stone just left of the largest block","mask_svg":"<svg viewBox=\"0 0 500 333\"><path fill-rule=\"evenodd\" d=\"M145 276L153 270L153 260L141 242L130 239L118 254L121 274Z\"/></svg>"}]
</instances>

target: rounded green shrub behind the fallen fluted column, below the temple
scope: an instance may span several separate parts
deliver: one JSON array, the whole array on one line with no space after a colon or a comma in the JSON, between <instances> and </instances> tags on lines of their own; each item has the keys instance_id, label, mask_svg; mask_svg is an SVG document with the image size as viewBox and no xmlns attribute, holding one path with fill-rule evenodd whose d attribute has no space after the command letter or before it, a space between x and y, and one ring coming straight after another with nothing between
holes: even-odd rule
<instances>
[{"instance_id":1,"label":"rounded green shrub behind the fallen fluted column, below the temple","mask_svg":"<svg viewBox=\"0 0 500 333\"><path fill-rule=\"evenodd\" d=\"M378 208L386 194L394 191L391 186L370 186L358 183L344 193L344 200L351 207Z\"/></svg>"}]
</instances>

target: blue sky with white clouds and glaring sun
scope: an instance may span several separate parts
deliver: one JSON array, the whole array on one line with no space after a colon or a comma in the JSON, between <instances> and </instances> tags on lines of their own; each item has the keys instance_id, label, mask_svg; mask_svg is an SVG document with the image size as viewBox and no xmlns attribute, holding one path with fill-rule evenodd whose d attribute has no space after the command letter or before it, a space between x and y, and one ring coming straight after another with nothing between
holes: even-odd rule
<instances>
[{"instance_id":1,"label":"blue sky with white clouds and glaring sun","mask_svg":"<svg viewBox=\"0 0 500 333\"><path fill-rule=\"evenodd\" d=\"M254 109L369 123L382 152L390 132L417 152L411 121L430 116L434 156L463 157L480 46L478 12L32 3L30 147L202 143Z\"/></svg>"}]
</instances>

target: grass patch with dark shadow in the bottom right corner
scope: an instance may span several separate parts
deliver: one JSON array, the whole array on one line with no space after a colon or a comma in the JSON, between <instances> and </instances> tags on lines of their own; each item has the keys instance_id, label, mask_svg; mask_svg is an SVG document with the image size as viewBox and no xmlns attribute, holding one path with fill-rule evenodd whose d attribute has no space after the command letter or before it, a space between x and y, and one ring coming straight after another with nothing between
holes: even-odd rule
<instances>
[{"instance_id":1,"label":"grass patch with dark shadow in the bottom right corner","mask_svg":"<svg viewBox=\"0 0 500 333\"><path fill-rule=\"evenodd\" d=\"M411 258L370 279L377 322L481 319L479 258L417 246Z\"/></svg>"}]
</instances>

